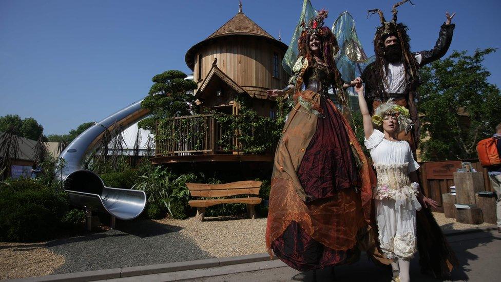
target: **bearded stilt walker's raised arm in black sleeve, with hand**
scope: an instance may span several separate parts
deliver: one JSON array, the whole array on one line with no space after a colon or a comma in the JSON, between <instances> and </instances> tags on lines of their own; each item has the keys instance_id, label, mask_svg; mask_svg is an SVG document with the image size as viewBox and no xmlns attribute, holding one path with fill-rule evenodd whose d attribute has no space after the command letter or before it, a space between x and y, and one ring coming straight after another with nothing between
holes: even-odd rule
<instances>
[{"instance_id":1,"label":"bearded stilt walker's raised arm in black sleeve, with hand","mask_svg":"<svg viewBox=\"0 0 501 282\"><path fill-rule=\"evenodd\" d=\"M429 64L433 61L436 61L447 53L447 50L449 50L449 46L451 46L452 42L452 34L454 33L454 24L451 24L452 18L454 17L456 13L452 13L452 15L449 14L449 12L446 12L446 17L447 20L446 22L440 27L440 32L438 33L438 40L435 43L435 47L429 51L421 51L419 54L421 55L421 62L420 66Z\"/></svg>"}]
</instances>

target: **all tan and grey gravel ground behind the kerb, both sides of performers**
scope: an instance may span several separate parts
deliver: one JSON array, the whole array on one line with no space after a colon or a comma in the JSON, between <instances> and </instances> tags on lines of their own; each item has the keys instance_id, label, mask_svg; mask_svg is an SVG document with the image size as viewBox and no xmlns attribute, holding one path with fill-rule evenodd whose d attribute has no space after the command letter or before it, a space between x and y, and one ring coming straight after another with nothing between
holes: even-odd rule
<instances>
[{"instance_id":1,"label":"all tan and grey gravel ground behind the kerb, both sides of performers","mask_svg":"<svg viewBox=\"0 0 501 282\"><path fill-rule=\"evenodd\" d=\"M443 230L494 226L433 213ZM117 220L117 229L41 243L0 242L0 279L266 252L266 218Z\"/></svg>"}]
</instances>

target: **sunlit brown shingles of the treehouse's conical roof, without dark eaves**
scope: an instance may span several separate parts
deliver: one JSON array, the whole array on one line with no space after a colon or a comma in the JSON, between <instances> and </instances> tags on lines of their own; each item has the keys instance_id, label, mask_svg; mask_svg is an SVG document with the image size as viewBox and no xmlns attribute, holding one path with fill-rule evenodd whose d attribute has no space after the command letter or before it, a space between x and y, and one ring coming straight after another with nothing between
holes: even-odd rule
<instances>
[{"instance_id":1,"label":"sunlit brown shingles of the treehouse's conical roof, without dark eaves","mask_svg":"<svg viewBox=\"0 0 501 282\"><path fill-rule=\"evenodd\" d=\"M209 37L206 38L206 40L218 36L234 34L260 35L274 39L272 35L269 35L269 33L264 31L264 29L258 26L244 13L238 12L234 17L231 18L231 20L226 22L226 24L216 30L213 34L210 34Z\"/></svg>"}]
</instances>

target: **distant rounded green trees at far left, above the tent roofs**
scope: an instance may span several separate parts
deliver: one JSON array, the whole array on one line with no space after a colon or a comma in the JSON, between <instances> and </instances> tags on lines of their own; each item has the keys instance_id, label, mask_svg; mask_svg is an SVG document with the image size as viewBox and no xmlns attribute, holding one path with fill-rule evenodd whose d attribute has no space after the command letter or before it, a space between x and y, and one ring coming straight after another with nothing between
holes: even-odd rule
<instances>
[{"instance_id":1,"label":"distant rounded green trees at far left, above the tent roofs","mask_svg":"<svg viewBox=\"0 0 501 282\"><path fill-rule=\"evenodd\" d=\"M21 119L18 115L0 117L0 131L5 132L9 128L14 128L17 136L31 140L38 140L44 132L44 127L33 118Z\"/></svg>"}]
</instances>

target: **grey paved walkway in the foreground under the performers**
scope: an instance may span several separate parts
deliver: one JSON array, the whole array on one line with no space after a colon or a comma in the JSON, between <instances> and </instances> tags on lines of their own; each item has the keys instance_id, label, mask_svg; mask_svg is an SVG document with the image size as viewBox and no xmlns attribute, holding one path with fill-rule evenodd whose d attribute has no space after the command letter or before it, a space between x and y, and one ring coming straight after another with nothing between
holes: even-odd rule
<instances>
[{"instance_id":1,"label":"grey paved walkway in the foreground under the performers","mask_svg":"<svg viewBox=\"0 0 501 282\"><path fill-rule=\"evenodd\" d=\"M497 231L481 231L448 236L461 264L453 272L453 281L497 281L501 276L501 234ZM112 279L109 281L290 281L298 272L284 266L283 262L263 261L210 269L198 269L172 273ZM363 259L355 265L336 268L336 281L384 281L390 280L390 271L375 267ZM210 276L210 277L208 277ZM419 272L415 258L411 267L412 281L438 281ZM318 281L333 281L330 270L317 272ZM305 281L311 281L311 275Z\"/></svg>"}]
</instances>

